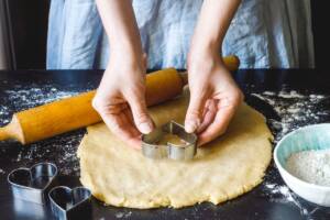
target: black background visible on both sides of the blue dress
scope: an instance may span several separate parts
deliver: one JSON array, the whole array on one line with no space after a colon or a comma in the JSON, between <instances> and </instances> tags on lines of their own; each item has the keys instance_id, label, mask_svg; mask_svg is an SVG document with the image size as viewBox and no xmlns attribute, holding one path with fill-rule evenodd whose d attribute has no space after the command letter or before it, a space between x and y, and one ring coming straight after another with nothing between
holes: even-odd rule
<instances>
[{"instance_id":1,"label":"black background visible on both sides of the blue dress","mask_svg":"<svg viewBox=\"0 0 330 220\"><path fill-rule=\"evenodd\" d=\"M18 69L44 69L51 0L9 0ZM330 48L330 13L327 0L310 0L316 67L326 68Z\"/></svg>"}]
</instances>

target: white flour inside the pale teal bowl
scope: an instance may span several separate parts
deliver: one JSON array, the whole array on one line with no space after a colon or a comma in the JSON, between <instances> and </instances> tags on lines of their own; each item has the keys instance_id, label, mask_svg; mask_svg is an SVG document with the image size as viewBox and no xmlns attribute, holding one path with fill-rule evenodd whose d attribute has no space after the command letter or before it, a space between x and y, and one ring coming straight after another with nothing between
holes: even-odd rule
<instances>
[{"instance_id":1,"label":"white flour inside the pale teal bowl","mask_svg":"<svg viewBox=\"0 0 330 220\"><path fill-rule=\"evenodd\" d=\"M330 150L295 153L287 160L286 168L305 182L330 186Z\"/></svg>"}]
</instances>

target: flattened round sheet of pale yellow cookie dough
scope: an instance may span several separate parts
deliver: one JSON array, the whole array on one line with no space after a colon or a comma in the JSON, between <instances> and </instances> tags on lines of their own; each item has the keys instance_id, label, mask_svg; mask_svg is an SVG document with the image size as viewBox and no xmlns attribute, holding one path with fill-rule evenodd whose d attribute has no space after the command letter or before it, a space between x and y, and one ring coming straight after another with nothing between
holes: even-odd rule
<instances>
[{"instance_id":1,"label":"flattened round sheet of pale yellow cookie dough","mask_svg":"<svg viewBox=\"0 0 330 220\"><path fill-rule=\"evenodd\" d=\"M187 96L150 109L156 124L183 122ZM264 117L242 105L226 135L193 161L153 161L113 136L103 123L88 128L78 148L80 180L108 205L180 208L235 198L258 185L272 158Z\"/></svg>"}]
</instances>

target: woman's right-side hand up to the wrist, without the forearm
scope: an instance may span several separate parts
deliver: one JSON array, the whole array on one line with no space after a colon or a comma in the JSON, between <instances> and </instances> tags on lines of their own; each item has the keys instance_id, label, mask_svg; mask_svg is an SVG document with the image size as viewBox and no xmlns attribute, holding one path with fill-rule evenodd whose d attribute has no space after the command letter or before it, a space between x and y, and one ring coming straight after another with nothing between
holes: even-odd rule
<instances>
[{"instance_id":1,"label":"woman's right-side hand up to the wrist, without the forearm","mask_svg":"<svg viewBox=\"0 0 330 220\"><path fill-rule=\"evenodd\" d=\"M202 145L226 132L243 95L218 53L190 56L188 81L190 102L185 128L197 132L198 145Z\"/></svg>"}]
</instances>

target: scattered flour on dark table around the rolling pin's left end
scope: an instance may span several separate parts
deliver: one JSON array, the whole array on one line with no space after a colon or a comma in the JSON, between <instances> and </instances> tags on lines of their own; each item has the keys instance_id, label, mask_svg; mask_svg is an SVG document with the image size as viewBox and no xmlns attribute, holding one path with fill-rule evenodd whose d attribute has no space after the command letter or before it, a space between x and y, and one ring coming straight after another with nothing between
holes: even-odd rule
<instances>
[{"instance_id":1,"label":"scattered flour on dark table around the rolling pin's left end","mask_svg":"<svg viewBox=\"0 0 330 220\"><path fill-rule=\"evenodd\" d=\"M1 90L0 92L4 95L1 96L0 100L0 127L9 123L14 112L68 98L86 90L67 90L67 88L57 88L53 85L34 84L29 86L18 85ZM13 164L16 164L15 166L31 166L45 161L54 162L61 174L78 176L79 163L76 151L82 134L84 131L75 131L28 146L22 146L14 141L1 142L0 155L2 158L10 158ZM7 175L9 172L0 167L0 175Z\"/></svg>"}]
</instances>

